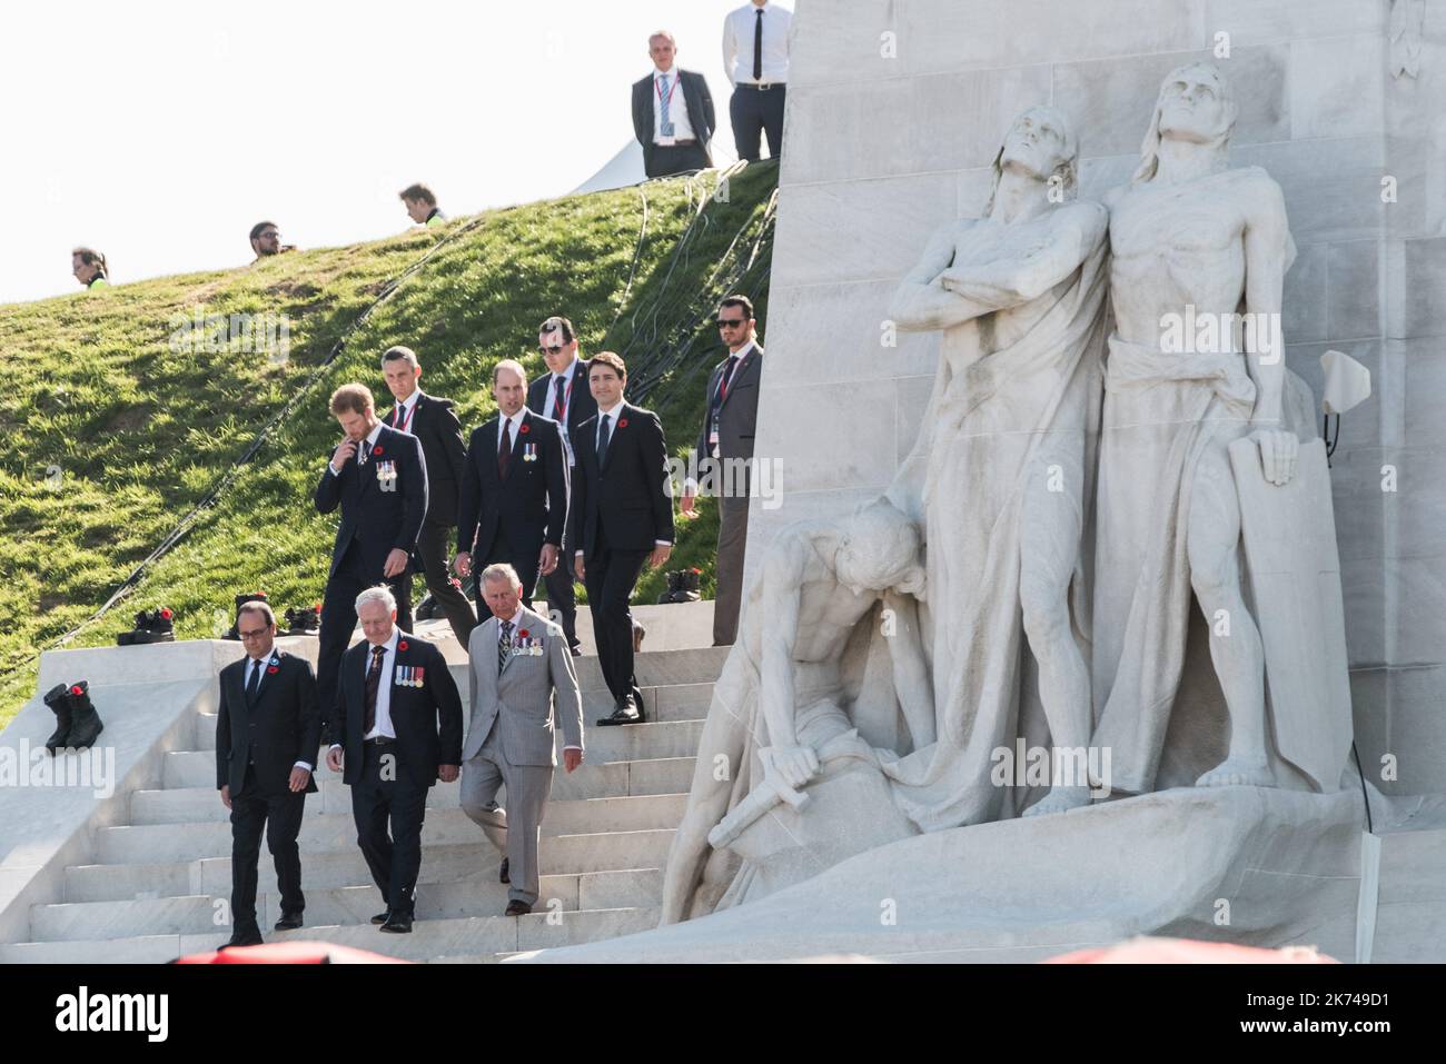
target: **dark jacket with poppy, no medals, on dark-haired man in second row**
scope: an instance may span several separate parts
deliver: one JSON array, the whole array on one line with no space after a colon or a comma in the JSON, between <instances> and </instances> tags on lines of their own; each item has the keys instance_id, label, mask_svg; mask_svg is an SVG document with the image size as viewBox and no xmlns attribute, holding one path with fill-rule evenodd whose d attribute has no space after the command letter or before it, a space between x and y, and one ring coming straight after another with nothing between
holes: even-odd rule
<instances>
[{"instance_id":1,"label":"dark jacket with poppy, no medals, on dark-haired man in second row","mask_svg":"<svg viewBox=\"0 0 1446 1064\"><path fill-rule=\"evenodd\" d=\"M659 539L672 542L668 448L656 413L623 400L602 463L596 415L578 425L573 450L577 470L567 542L574 551L583 551L584 559L597 552L599 525L613 551L651 551Z\"/></svg>"}]
</instances>

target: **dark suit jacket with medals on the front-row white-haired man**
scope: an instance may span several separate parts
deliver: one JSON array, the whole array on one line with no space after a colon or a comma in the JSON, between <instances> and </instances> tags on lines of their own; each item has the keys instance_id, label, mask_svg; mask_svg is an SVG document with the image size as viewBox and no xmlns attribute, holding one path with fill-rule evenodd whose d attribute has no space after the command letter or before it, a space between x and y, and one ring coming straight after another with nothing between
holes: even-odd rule
<instances>
[{"instance_id":1,"label":"dark suit jacket with medals on the front-row white-haired man","mask_svg":"<svg viewBox=\"0 0 1446 1064\"><path fill-rule=\"evenodd\" d=\"M341 698L331 720L333 742L340 743L346 759L341 779L362 779L366 737L366 671L372 643L366 639L341 655ZM396 666L421 666L422 687L399 687ZM432 643L406 632L399 633L392 675L382 677L392 685L392 730L396 733L396 778L416 788L437 782L438 765L461 765L461 695L447 671L447 659ZM338 718L340 717L340 718Z\"/></svg>"}]
</instances>

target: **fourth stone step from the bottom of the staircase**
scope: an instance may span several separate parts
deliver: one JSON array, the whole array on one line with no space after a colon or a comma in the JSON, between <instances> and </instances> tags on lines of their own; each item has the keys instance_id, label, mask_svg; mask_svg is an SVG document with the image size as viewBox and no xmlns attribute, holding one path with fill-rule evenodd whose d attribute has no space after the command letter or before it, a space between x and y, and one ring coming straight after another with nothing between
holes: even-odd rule
<instances>
[{"instance_id":1,"label":"fourth stone step from the bottom of the staircase","mask_svg":"<svg viewBox=\"0 0 1446 1064\"><path fill-rule=\"evenodd\" d=\"M591 836L674 828L683 820L685 804L687 795L683 794L549 802L542 833ZM429 811L422 825L422 837L434 846L476 841L480 833L482 828L455 807ZM356 836L350 812L322 812L302 820L298 841L302 853L315 854L354 847ZM226 857L231 853L231 825L226 821L194 821L103 827L94 834L94 853L98 864Z\"/></svg>"}]
</instances>

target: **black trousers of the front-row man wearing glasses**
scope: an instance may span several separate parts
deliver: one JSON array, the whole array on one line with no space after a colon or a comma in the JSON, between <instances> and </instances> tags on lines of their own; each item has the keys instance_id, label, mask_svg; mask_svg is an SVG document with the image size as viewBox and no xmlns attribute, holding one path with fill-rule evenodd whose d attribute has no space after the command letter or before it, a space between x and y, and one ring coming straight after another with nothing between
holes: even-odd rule
<instances>
[{"instance_id":1,"label":"black trousers of the front-row man wearing glasses","mask_svg":"<svg viewBox=\"0 0 1446 1064\"><path fill-rule=\"evenodd\" d=\"M301 912L307 899L301 893L301 817L307 807L307 792L262 794L256 784L254 766L247 766L241 794L231 795L231 927L256 928L256 864L262 853L262 830L266 849L276 863L276 886L281 891L281 911Z\"/></svg>"}]
</instances>

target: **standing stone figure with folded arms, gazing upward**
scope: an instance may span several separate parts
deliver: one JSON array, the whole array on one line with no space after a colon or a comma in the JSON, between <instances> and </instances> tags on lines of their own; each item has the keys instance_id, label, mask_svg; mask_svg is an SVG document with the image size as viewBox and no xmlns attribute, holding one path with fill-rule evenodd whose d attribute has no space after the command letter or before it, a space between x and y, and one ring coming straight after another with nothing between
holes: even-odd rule
<instances>
[{"instance_id":1,"label":"standing stone figure with folded arms, gazing upward","mask_svg":"<svg viewBox=\"0 0 1446 1064\"><path fill-rule=\"evenodd\" d=\"M1021 734L1022 636L1054 747L1089 742L1080 544L1108 215L1074 201L1077 159L1063 114L1019 114L985 217L941 228L889 309L901 330L944 332L918 441L889 489L927 529L938 742L885 771L927 831L1006 812L989 765ZM1053 760L1053 789L1032 812L1089 802L1087 781Z\"/></svg>"}]
</instances>

